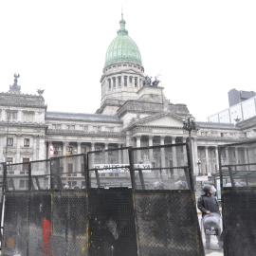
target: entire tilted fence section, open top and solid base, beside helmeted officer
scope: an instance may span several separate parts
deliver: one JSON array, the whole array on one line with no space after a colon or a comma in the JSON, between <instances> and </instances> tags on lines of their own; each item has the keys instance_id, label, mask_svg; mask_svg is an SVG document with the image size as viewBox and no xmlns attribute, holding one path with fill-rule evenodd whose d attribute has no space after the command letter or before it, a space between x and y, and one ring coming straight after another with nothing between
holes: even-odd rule
<instances>
[{"instance_id":1,"label":"entire tilted fence section, open top and solid base, beside helmeted officer","mask_svg":"<svg viewBox=\"0 0 256 256\"><path fill-rule=\"evenodd\" d=\"M130 150L139 255L204 255L186 149Z\"/></svg>"}]
</instances>

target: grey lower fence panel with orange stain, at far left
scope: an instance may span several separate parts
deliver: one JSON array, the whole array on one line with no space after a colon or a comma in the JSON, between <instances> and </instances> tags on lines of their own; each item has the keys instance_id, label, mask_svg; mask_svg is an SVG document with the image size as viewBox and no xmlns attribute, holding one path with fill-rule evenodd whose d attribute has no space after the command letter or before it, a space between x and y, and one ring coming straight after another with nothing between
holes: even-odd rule
<instances>
[{"instance_id":1,"label":"grey lower fence panel with orange stain, at far left","mask_svg":"<svg viewBox=\"0 0 256 256\"><path fill-rule=\"evenodd\" d=\"M2 253L27 255L27 192L7 192Z\"/></svg>"}]
</instances>

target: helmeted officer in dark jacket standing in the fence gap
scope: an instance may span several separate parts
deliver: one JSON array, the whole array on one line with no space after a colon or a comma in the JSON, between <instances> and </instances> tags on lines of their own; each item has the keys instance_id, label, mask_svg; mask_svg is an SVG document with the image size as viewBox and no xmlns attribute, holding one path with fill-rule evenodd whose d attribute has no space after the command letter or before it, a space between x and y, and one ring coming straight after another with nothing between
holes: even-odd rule
<instances>
[{"instance_id":1,"label":"helmeted officer in dark jacket standing in the fence gap","mask_svg":"<svg viewBox=\"0 0 256 256\"><path fill-rule=\"evenodd\" d=\"M219 218L216 218L216 226L215 229L218 229L218 240L220 240L220 210L217 198L212 194L216 192L214 186L205 185L203 188L203 193L197 200L197 208L202 211L202 218L204 218L207 214L217 213ZM206 247L210 247L210 234L206 234Z\"/></svg>"}]
</instances>

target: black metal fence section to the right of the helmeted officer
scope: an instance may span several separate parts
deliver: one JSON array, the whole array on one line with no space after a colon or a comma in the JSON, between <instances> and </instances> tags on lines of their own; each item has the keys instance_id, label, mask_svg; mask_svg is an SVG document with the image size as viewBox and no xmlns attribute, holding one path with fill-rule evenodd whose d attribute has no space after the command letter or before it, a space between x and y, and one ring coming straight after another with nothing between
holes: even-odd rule
<instances>
[{"instance_id":1,"label":"black metal fence section to the right of the helmeted officer","mask_svg":"<svg viewBox=\"0 0 256 256\"><path fill-rule=\"evenodd\" d=\"M224 255L256 249L256 140L219 146Z\"/></svg>"}]
</instances>

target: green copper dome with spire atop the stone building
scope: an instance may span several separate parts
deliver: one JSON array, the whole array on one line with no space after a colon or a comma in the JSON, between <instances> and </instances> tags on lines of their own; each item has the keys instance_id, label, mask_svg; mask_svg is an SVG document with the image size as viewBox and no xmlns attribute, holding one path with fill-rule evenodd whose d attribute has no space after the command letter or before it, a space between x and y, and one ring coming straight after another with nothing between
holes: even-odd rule
<instances>
[{"instance_id":1,"label":"green copper dome with spire atop the stone building","mask_svg":"<svg viewBox=\"0 0 256 256\"><path fill-rule=\"evenodd\" d=\"M134 40L128 36L128 31L125 29L125 21L122 14L119 25L118 36L108 46L105 66L118 62L142 64L139 49Z\"/></svg>"}]
</instances>

